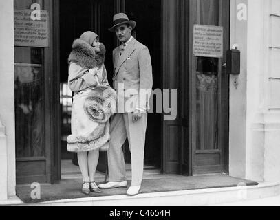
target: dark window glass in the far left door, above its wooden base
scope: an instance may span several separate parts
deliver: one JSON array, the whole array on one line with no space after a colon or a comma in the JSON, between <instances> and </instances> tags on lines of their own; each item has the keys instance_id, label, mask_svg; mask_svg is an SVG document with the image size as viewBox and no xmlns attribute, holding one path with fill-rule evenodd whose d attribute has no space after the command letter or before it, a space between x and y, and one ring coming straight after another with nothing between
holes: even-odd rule
<instances>
[{"instance_id":1,"label":"dark window glass in the far left door, above its wooden base","mask_svg":"<svg viewBox=\"0 0 280 220\"><path fill-rule=\"evenodd\" d=\"M16 12L30 10L32 4L43 7L43 1L14 0ZM41 8L42 9L42 8ZM16 117L16 155L43 157L44 149L44 104L43 104L43 51L42 47L18 46L17 39L32 33L25 26L25 18L15 19L14 83ZM23 22L20 22L20 21ZM27 21L28 22L28 21ZM18 29L17 29L18 28ZM17 30L16 30L17 29ZM21 31L22 30L22 31Z\"/></svg>"}]
</instances>

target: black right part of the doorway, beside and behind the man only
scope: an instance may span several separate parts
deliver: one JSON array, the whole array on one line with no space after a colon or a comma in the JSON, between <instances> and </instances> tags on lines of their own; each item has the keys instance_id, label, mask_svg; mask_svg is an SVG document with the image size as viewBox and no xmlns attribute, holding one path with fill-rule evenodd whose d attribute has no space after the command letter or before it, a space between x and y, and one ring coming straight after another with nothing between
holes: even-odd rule
<instances>
[{"instance_id":1,"label":"black right part of the doorway, beside and behind the man only","mask_svg":"<svg viewBox=\"0 0 280 220\"><path fill-rule=\"evenodd\" d=\"M149 48L153 67L153 89L162 89L161 69L161 0L124 1L123 12L136 21L133 36ZM141 5L141 7L140 7ZM162 169L162 115L148 113L144 165L147 168ZM125 160L130 162L129 146L125 144Z\"/></svg>"}]
</instances>

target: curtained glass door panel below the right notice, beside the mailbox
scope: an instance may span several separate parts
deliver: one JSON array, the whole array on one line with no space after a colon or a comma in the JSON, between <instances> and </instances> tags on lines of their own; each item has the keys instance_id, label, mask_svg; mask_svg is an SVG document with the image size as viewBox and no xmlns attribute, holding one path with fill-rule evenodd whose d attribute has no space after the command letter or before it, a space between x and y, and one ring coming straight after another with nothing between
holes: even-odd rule
<instances>
[{"instance_id":1,"label":"curtained glass door panel below the right notice, beside the mailbox","mask_svg":"<svg viewBox=\"0 0 280 220\"><path fill-rule=\"evenodd\" d=\"M217 58L197 58L196 111L197 150L218 149Z\"/></svg>"}]
</instances>

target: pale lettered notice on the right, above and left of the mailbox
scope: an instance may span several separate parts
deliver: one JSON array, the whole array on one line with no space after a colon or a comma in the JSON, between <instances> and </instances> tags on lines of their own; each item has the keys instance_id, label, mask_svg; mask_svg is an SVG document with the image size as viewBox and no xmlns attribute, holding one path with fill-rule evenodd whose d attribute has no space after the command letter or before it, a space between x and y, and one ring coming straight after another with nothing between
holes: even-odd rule
<instances>
[{"instance_id":1,"label":"pale lettered notice on the right, above and left of the mailbox","mask_svg":"<svg viewBox=\"0 0 280 220\"><path fill-rule=\"evenodd\" d=\"M223 56L223 27L211 25L193 26L193 56Z\"/></svg>"}]
</instances>

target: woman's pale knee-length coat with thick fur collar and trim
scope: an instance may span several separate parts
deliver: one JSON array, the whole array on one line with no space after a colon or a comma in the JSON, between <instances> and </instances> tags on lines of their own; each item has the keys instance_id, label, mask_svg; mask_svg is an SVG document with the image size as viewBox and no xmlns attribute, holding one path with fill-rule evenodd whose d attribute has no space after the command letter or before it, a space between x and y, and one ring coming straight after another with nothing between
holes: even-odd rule
<instances>
[{"instance_id":1,"label":"woman's pale knee-length coat with thick fur collar and trim","mask_svg":"<svg viewBox=\"0 0 280 220\"><path fill-rule=\"evenodd\" d=\"M72 104L72 134L67 137L67 150L107 151L109 118L116 110L116 91L109 87L107 76L104 74L105 46L101 44L100 52L96 54L93 47L83 40L76 39L68 61L69 65L74 63L78 69L72 72L73 68L70 67L69 76L76 80L76 87L80 84L82 89L74 91L76 94ZM98 76L97 80L95 74ZM82 87L82 84L87 86Z\"/></svg>"}]
</instances>

